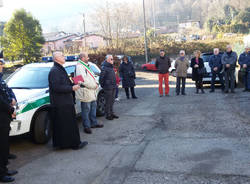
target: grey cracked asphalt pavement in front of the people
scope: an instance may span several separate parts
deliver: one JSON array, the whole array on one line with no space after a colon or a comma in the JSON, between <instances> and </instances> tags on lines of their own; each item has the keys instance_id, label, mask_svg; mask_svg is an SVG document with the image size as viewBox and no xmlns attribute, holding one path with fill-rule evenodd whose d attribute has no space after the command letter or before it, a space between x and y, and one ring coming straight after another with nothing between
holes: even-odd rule
<instances>
[{"instance_id":1,"label":"grey cracked asphalt pavement in front of the people","mask_svg":"<svg viewBox=\"0 0 250 184\"><path fill-rule=\"evenodd\" d=\"M245 184L250 183L250 93L158 97L157 75L137 73L138 100L124 91L116 103L119 120L106 121L88 147L53 151L15 138L18 184ZM82 132L82 127L81 132Z\"/></svg>"}]
</instances>

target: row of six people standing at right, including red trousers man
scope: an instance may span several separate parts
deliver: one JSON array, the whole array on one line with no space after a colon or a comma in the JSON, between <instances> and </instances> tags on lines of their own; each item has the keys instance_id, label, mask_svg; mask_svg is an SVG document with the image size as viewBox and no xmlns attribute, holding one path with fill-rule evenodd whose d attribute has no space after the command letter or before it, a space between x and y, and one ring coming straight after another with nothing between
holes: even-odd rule
<instances>
[{"instance_id":1,"label":"row of six people standing at right, including red trousers man","mask_svg":"<svg viewBox=\"0 0 250 184\"><path fill-rule=\"evenodd\" d=\"M181 50L179 57L175 61L176 71L176 95L186 95L185 85L187 78L188 68L192 68L192 80L195 81L196 93L199 91L205 93L203 87L203 77L206 75L206 67L203 59L201 58L201 52L199 50L194 51L194 57L191 59L191 63L185 56L185 51ZM218 77L221 90L224 93L228 93L229 89L231 93L235 93L235 69L237 65L238 56L237 53L232 51L232 46L228 45L226 52L220 53L218 48L214 48L213 55L209 58L209 66L211 68L211 90L215 91L215 80ZM244 72L244 91L250 91L250 49L246 47L239 57L239 65L241 71ZM168 56L165 55L164 50L160 50L160 56L156 59L155 67L159 71L159 94L163 96L163 79L165 81L165 95L169 95L169 68L171 67L171 61ZM182 84L182 87L181 87Z\"/></svg>"}]
</instances>

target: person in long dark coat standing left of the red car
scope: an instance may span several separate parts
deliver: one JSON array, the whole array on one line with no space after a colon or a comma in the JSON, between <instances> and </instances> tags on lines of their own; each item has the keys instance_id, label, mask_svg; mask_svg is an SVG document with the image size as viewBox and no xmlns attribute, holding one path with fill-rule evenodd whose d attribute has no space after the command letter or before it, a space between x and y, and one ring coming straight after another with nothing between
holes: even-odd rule
<instances>
[{"instance_id":1,"label":"person in long dark coat standing left of the red car","mask_svg":"<svg viewBox=\"0 0 250 184\"><path fill-rule=\"evenodd\" d=\"M122 80L122 87L125 89L127 99L130 98L129 96L129 88L131 91L132 98L136 99L135 96L135 70L133 64L128 61L128 57L123 57L123 62L119 68L120 78Z\"/></svg>"}]
</instances>

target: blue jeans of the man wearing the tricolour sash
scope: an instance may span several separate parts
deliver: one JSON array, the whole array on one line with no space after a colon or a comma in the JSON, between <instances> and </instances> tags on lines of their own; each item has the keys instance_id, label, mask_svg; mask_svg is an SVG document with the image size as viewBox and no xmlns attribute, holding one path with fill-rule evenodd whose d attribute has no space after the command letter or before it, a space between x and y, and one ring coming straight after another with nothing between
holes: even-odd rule
<instances>
[{"instance_id":1,"label":"blue jeans of the man wearing the tricolour sash","mask_svg":"<svg viewBox=\"0 0 250 184\"><path fill-rule=\"evenodd\" d=\"M97 125L96 107L97 107L96 101L81 102L82 121L84 128L91 128L91 126Z\"/></svg>"}]
</instances>

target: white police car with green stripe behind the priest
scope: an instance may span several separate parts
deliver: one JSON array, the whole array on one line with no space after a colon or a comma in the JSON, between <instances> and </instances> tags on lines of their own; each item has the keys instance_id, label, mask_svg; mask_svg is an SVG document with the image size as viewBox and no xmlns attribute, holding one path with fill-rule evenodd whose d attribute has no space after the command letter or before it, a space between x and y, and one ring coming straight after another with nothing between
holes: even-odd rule
<instances>
[{"instance_id":1,"label":"white police car with green stripe behind the priest","mask_svg":"<svg viewBox=\"0 0 250 184\"><path fill-rule=\"evenodd\" d=\"M75 71L77 62L66 62L64 67L69 76ZM100 69L89 62L90 68L99 80ZM35 143L47 143L51 137L49 118L49 84L48 74L51 63L33 63L23 66L14 72L6 82L17 98L17 116L11 122L10 136L30 133ZM104 115L105 98L101 87L98 89L97 115ZM81 112L80 101L76 101L76 113Z\"/></svg>"}]
</instances>

